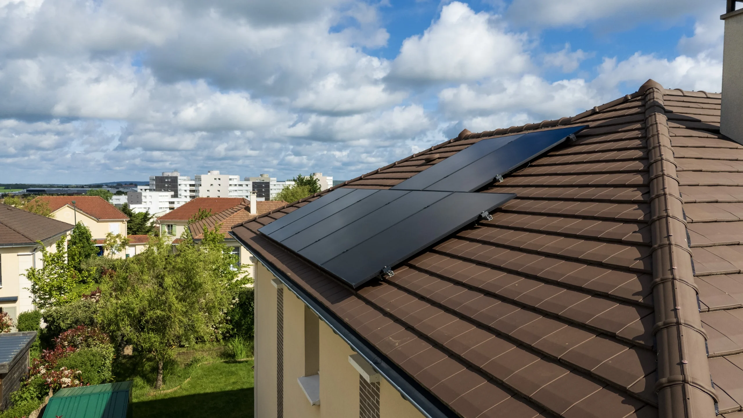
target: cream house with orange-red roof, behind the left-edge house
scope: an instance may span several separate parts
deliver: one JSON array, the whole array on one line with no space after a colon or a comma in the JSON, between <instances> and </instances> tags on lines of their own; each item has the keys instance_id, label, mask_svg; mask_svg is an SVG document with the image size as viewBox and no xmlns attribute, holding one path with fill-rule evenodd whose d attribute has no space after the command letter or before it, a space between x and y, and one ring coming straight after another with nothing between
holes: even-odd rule
<instances>
[{"instance_id":1,"label":"cream house with orange-red roof, behind the left-edge house","mask_svg":"<svg viewBox=\"0 0 743 418\"><path fill-rule=\"evenodd\" d=\"M100 196L39 196L33 202L39 200L49 204L54 219L73 225L82 222L93 239L106 239L109 232L126 237L129 216Z\"/></svg>"}]
</instances>

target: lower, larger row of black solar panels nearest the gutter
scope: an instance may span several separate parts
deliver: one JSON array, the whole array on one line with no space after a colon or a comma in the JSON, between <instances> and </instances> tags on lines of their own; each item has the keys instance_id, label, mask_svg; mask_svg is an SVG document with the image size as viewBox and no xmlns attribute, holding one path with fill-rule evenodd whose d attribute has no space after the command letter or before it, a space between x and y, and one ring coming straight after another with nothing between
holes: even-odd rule
<instances>
[{"instance_id":1,"label":"lower, larger row of black solar panels nearest the gutter","mask_svg":"<svg viewBox=\"0 0 743 418\"><path fill-rule=\"evenodd\" d=\"M259 231L357 287L514 197L337 189Z\"/></svg>"}]
</instances>

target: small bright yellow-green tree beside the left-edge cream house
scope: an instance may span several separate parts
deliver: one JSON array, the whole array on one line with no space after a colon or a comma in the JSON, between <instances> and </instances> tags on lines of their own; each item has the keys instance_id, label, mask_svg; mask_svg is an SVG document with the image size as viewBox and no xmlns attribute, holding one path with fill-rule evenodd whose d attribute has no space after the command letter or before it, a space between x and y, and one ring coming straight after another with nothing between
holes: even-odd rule
<instances>
[{"instance_id":1,"label":"small bright yellow-green tree beside the left-edge cream house","mask_svg":"<svg viewBox=\"0 0 743 418\"><path fill-rule=\"evenodd\" d=\"M31 282L30 291L36 299L36 306L46 309L59 306L76 299L74 288L80 283L80 273L67 263L65 239L56 242L56 251L46 249L41 241L43 267L30 267L26 277Z\"/></svg>"}]
</instances>

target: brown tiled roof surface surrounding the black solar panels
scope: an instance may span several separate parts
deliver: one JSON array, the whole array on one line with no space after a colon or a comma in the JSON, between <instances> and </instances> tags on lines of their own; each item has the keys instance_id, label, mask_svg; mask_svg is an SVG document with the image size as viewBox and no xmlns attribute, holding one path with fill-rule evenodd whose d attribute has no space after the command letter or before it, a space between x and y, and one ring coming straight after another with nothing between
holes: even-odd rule
<instances>
[{"instance_id":1,"label":"brown tiled roof surface surrounding the black solar panels","mask_svg":"<svg viewBox=\"0 0 743 418\"><path fill-rule=\"evenodd\" d=\"M329 190L233 233L461 417L739 411L743 146L719 133L720 97L649 81L573 118L464 131L338 186L387 188L483 138L589 126L481 190L517 195L493 220L356 291L257 231Z\"/></svg>"}]
</instances>

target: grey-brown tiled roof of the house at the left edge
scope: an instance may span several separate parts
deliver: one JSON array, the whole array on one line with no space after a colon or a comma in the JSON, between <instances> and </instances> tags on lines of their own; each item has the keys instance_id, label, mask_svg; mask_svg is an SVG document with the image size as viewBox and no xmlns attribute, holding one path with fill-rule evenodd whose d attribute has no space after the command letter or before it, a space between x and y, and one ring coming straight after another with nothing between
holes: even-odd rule
<instances>
[{"instance_id":1,"label":"grey-brown tiled roof of the house at the left edge","mask_svg":"<svg viewBox=\"0 0 743 418\"><path fill-rule=\"evenodd\" d=\"M33 244L72 228L67 222L0 204L0 245Z\"/></svg>"}]
</instances>

